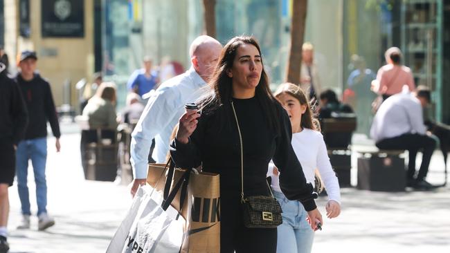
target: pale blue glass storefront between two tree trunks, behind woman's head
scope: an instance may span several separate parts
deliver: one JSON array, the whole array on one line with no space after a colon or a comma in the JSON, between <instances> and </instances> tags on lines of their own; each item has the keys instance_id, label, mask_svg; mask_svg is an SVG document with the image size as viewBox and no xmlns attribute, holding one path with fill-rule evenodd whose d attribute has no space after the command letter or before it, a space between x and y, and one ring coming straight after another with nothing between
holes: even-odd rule
<instances>
[{"instance_id":1,"label":"pale blue glass storefront between two tree trunks, behind woman's head","mask_svg":"<svg viewBox=\"0 0 450 253\"><path fill-rule=\"evenodd\" d=\"M253 35L260 43L272 83L284 77L289 30L282 26L282 1L219 0L216 6L217 39L225 44L236 35Z\"/></svg>"}]
</instances>

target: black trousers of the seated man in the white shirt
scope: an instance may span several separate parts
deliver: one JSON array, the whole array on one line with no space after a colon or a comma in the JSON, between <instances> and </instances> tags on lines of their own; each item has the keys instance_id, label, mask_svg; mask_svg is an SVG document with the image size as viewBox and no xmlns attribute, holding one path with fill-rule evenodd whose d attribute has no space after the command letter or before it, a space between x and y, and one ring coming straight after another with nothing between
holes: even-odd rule
<instances>
[{"instance_id":1,"label":"black trousers of the seated man in the white shirt","mask_svg":"<svg viewBox=\"0 0 450 253\"><path fill-rule=\"evenodd\" d=\"M406 149L409 153L407 180L424 180L428 174L431 156L436 147L436 141L428 135L420 135L417 133L406 133L394 138L388 138L377 142L379 149ZM422 164L420 165L417 177L415 175L415 157L417 152L422 150Z\"/></svg>"}]
</instances>

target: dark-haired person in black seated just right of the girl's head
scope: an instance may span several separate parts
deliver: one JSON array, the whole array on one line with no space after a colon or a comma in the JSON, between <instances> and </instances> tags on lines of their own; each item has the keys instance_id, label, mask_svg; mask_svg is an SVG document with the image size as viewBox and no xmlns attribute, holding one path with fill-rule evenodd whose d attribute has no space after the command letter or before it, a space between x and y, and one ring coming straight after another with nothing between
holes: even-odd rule
<instances>
[{"instance_id":1,"label":"dark-haired person in black seated just right of the girl's head","mask_svg":"<svg viewBox=\"0 0 450 253\"><path fill-rule=\"evenodd\" d=\"M327 148L347 148L352 142L352 132L354 129L347 131L333 131L327 133L324 124L324 119L333 118L336 120L354 120L356 124L356 114L348 104L342 104L337 99L334 91L327 89L319 96L321 100L321 109L318 111L318 119L321 122L321 129L323 129L323 139Z\"/></svg>"}]
</instances>

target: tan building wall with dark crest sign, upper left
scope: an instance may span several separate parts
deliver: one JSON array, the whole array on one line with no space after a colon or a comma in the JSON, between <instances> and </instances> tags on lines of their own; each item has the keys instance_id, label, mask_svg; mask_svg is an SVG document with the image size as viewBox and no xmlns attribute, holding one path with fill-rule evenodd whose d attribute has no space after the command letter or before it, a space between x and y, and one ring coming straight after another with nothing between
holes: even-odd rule
<instances>
[{"instance_id":1,"label":"tan building wall with dark crest sign, upper left","mask_svg":"<svg viewBox=\"0 0 450 253\"><path fill-rule=\"evenodd\" d=\"M4 0L5 41L12 59L35 50L37 69L52 86L57 105L75 104L75 83L91 76L93 4L91 0Z\"/></svg>"}]
</instances>

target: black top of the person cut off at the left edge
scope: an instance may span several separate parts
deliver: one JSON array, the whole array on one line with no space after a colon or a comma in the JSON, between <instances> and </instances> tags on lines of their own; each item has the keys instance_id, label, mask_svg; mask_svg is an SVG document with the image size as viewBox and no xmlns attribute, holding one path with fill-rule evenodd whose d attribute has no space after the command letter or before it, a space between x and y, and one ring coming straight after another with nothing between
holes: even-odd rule
<instances>
[{"instance_id":1,"label":"black top of the person cut off at the left edge","mask_svg":"<svg viewBox=\"0 0 450 253\"><path fill-rule=\"evenodd\" d=\"M0 71L0 140L17 144L24 138L28 114L19 86L5 72Z\"/></svg>"}]
</instances>

